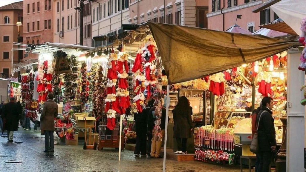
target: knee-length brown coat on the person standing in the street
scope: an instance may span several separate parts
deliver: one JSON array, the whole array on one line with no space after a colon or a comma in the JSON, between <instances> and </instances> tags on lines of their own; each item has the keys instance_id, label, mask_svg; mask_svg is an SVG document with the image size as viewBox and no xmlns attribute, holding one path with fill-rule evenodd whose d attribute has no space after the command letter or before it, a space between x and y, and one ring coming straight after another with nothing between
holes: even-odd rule
<instances>
[{"instance_id":1,"label":"knee-length brown coat on the person standing in the street","mask_svg":"<svg viewBox=\"0 0 306 172\"><path fill-rule=\"evenodd\" d=\"M43 105L40 116L41 130L54 131L54 118L58 115L58 106L53 100L48 99Z\"/></svg>"}]
</instances>

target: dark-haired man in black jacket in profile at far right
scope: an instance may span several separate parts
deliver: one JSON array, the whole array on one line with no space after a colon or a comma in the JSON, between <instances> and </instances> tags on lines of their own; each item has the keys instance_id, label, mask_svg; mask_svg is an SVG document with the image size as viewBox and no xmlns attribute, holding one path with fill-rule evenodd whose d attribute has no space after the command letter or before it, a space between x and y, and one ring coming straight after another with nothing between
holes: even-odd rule
<instances>
[{"instance_id":1,"label":"dark-haired man in black jacket in profile at far right","mask_svg":"<svg viewBox=\"0 0 306 172\"><path fill-rule=\"evenodd\" d=\"M260 156L258 171L269 172L272 151L276 148L274 119L272 118L273 99L271 97L264 97L261 103L263 107L256 118Z\"/></svg>"}]
</instances>

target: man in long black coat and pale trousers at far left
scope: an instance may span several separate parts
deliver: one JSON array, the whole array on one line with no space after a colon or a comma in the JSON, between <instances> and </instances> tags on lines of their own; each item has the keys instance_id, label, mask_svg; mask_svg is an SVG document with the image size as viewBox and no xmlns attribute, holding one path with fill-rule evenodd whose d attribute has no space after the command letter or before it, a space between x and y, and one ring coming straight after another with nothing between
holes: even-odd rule
<instances>
[{"instance_id":1,"label":"man in long black coat and pale trousers at far left","mask_svg":"<svg viewBox=\"0 0 306 172\"><path fill-rule=\"evenodd\" d=\"M10 102L4 107L4 121L5 128L7 130L7 140L13 142L14 131L18 130L18 110L15 98L10 98Z\"/></svg>"}]
</instances>

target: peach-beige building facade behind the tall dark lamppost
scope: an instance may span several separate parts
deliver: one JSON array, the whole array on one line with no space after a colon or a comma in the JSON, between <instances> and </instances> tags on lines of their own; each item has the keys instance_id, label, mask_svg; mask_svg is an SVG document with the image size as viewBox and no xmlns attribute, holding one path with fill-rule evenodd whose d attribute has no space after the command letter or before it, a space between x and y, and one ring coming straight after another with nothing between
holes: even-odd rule
<instances>
[{"instance_id":1,"label":"peach-beige building facade behind the tall dark lamppost","mask_svg":"<svg viewBox=\"0 0 306 172\"><path fill-rule=\"evenodd\" d=\"M91 3L84 1L83 45L91 47ZM80 45L80 6L79 0L53 1L53 42Z\"/></svg>"}]
</instances>

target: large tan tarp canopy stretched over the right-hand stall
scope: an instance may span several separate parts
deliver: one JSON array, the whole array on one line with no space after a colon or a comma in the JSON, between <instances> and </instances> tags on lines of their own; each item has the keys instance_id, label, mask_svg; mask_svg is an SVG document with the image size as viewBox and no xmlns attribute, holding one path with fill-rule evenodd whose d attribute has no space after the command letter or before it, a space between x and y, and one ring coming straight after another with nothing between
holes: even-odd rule
<instances>
[{"instance_id":1,"label":"large tan tarp canopy stretched over the right-hand stall","mask_svg":"<svg viewBox=\"0 0 306 172\"><path fill-rule=\"evenodd\" d=\"M171 84L218 73L300 46L297 41L285 37L269 38L152 22L148 25Z\"/></svg>"}]
</instances>

